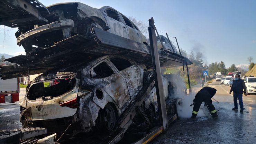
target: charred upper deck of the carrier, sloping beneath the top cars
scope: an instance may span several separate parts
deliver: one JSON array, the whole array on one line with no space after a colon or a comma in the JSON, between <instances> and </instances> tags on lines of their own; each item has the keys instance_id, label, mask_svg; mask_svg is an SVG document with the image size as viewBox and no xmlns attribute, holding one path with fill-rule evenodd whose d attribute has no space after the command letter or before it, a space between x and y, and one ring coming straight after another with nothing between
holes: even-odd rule
<instances>
[{"instance_id":1,"label":"charred upper deck of the carrier, sloping beneath the top cars","mask_svg":"<svg viewBox=\"0 0 256 144\"><path fill-rule=\"evenodd\" d=\"M6 59L6 61L17 64L1 66L0 77L10 79L43 73L56 66L89 62L108 54L124 55L152 68L150 46L97 28L94 28L93 31L93 37L77 34L56 42L48 48L34 48L26 56L19 55ZM169 67L183 66L185 63L192 64L188 58L176 53L158 50L158 54L161 65L166 62Z\"/></svg>"}]
</instances>

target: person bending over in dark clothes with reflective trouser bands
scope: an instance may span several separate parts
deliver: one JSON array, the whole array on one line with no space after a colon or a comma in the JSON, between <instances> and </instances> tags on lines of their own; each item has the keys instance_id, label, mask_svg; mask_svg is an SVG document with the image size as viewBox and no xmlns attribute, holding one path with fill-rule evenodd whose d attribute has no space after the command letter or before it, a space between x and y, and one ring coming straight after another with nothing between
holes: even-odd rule
<instances>
[{"instance_id":1,"label":"person bending over in dark clothes with reflective trouser bands","mask_svg":"<svg viewBox=\"0 0 256 144\"><path fill-rule=\"evenodd\" d=\"M212 104L212 100L211 100L211 98L216 93L216 91L217 90L214 88L205 86L198 93L196 93L195 99L193 100L194 107L193 107L192 116L191 116L192 119L194 119L196 117L196 115L198 114L198 111L200 109L202 102L204 102L205 104L208 105L208 107L211 111L212 117L218 118L217 111L216 111L214 105Z\"/></svg>"}]
</instances>

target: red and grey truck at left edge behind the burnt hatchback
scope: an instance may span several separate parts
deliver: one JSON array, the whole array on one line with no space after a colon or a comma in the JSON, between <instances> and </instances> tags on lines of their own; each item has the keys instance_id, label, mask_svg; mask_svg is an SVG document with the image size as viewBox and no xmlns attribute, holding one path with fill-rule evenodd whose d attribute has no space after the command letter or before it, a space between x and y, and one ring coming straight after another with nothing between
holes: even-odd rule
<instances>
[{"instance_id":1,"label":"red and grey truck at left edge behind the burnt hatchback","mask_svg":"<svg viewBox=\"0 0 256 144\"><path fill-rule=\"evenodd\" d=\"M0 65L5 65L0 63ZM19 78L0 79L0 103L19 101Z\"/></svg>"}]
</instances>

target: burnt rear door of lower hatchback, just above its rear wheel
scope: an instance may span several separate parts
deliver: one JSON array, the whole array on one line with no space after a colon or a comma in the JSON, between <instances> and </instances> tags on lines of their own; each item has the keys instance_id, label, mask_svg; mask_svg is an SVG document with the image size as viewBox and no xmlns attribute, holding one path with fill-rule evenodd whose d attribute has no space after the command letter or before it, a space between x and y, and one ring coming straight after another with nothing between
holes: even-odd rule
<instances>
[{"instance_id":1,"label":"burnt rear door of lower hatchback, just above its rear wheel","mask_svg":"<svg viewBox=\"0 0 256 144\"><path fill-rule=\"evenodd\" d=\"M91 68L91 76L98 88L104 90L122 109L129 102L130 95L124 77L113 67L109 61L103 60Z\"/></svg>"}]
</instances>

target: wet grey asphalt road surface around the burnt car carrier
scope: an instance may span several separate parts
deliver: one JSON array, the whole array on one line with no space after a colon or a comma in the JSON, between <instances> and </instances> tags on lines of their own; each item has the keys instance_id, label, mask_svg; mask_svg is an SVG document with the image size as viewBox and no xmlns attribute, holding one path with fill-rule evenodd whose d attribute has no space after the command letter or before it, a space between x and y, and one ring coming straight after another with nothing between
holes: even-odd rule
<instances>
[{"instance_id":1,"label":"wet grey asphalt road surface around the burnt car carrier","mask_svg":"<svg viewBox=\"0 0 256 144\"><path fill-rule=\"evenodd\" d=\"M201 89L200 85L194 87L196 93ZM208 144L208 143L256 143L256 95L243 95L245 112L232 111L234 107L230 87L212 82L209 86L217 89L214 95L220 104L219 119L212 119L210 115L198 117L196 120L178 119L168 129L157 136L151 144L175 143L175 144ZM20 100L25 91L20 94ZM213 104L218 107L217 102ZM12 130L20 128L20 106L17 103L0 104L0 130Z\"/></svg>"}]
</instances>

